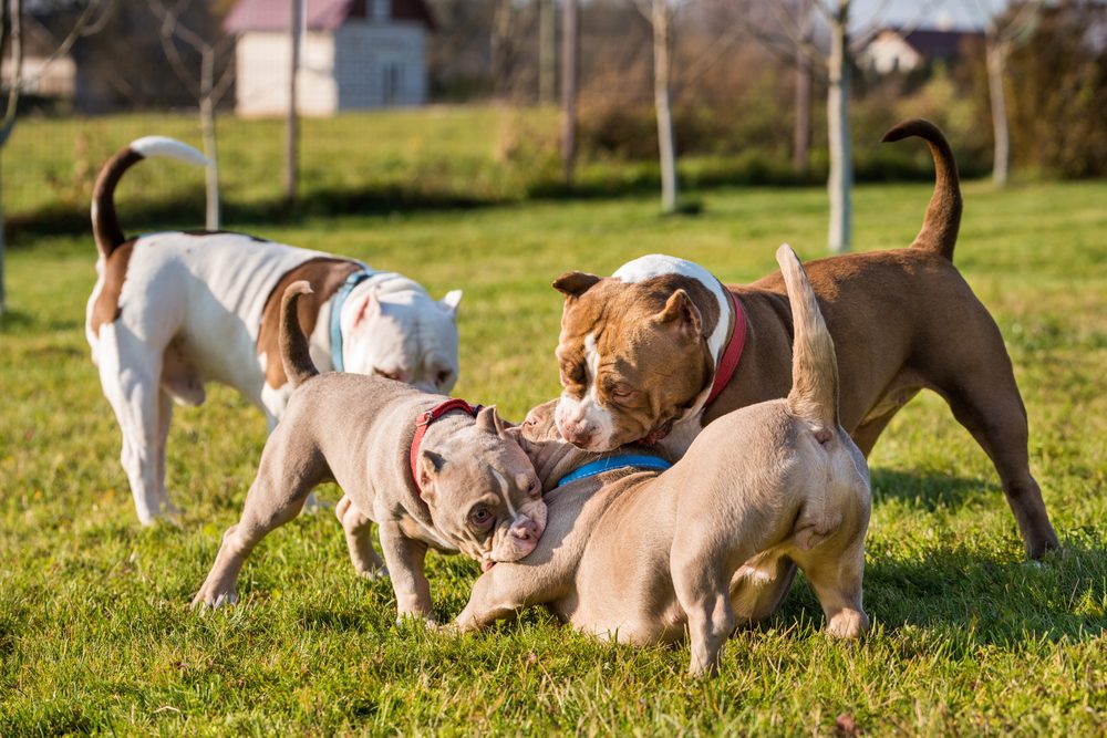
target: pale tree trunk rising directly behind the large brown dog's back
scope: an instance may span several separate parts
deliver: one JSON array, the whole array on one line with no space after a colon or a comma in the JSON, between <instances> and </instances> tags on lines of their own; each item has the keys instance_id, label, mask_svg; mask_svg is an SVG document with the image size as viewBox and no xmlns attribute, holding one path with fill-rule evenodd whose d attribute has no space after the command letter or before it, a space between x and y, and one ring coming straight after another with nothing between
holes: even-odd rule
<instances>
[{"instance_id":1,"label":"pale tree trunk rising directly behind the large brown dog's back","mask_svg":"<svg viewBox=\"0 0 1107 738\"><path fill-rule=\"evenodd\" d=\"M853 159L849 134L849 0L840 0L830 24L830 89L827 93L827 132L830 145L828 245L834 253L849 251L850 190Z\"/></svg>"}]
</instances>

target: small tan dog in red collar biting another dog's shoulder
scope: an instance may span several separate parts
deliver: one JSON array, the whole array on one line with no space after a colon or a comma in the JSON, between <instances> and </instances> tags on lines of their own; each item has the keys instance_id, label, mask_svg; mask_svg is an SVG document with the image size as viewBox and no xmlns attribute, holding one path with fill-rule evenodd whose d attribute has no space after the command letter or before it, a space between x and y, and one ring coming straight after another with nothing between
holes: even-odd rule
<instances>
[{"instance_id":1,"label":"small tan dog in red collar biting another dog's shoulder","mask_svg":"<svg viewBox=\"0 0 1107 738\"><path fill-rule=\"evenodd\" d=\"M280 353L294 387L288 409L193 604L235 602L239 570L258 541L294 518L313 487L333 480L344 492L337 513L358 573L385 573L371 540L375 522L400 615L432 621L427 549L462 552L485 568L534 550L546 526L534 467L493 408L477 412L381 377L318 375L296 318L301 294L310 294L307 282L293 282L281 305Z\"/></svg>"}]
</instances>

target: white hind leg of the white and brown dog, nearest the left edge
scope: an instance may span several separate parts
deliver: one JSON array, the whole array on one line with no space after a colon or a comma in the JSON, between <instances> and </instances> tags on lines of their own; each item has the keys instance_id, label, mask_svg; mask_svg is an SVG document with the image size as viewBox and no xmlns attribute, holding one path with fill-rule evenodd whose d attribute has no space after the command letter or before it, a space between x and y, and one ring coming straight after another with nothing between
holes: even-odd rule
<instances>
[{"instance_id":1,"label":"white hind leg of the white and brown dog, nearest the left edge","mask_svg":"<svg viewBox=\"0 0 1107 738\"><path fill-rule=\"evenodd\" d=\"M102 325L96 351L100 383L123 434L120 460L131 482L138 520L148 526L168 512L165 496L165 443L162 356L151 352L122 321Z\"/></svg>"}]
</instances>

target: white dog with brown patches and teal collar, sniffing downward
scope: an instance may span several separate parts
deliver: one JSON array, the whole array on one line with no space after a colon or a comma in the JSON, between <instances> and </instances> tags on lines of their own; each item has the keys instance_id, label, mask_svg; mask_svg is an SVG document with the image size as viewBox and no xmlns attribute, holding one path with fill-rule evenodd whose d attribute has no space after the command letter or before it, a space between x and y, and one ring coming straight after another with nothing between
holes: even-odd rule
<instances>
[{"instance_id":1,"label":"white dog with brown patches and teal collar, sniffing downward","mask_svg":"<svg viewBox=\"0 0 1107 738\"><path fill-rule=\"evenodd\" d=\"M261 408L270 430L280 419L290 389L277 360L277 323L280 294L293 281L314 285L299 318L320 367L379 374L425 392L453 388L461 291L435 301L401 274L239 233L127 239L115 214L115 187L147 157L206 164L190 146L149 136L104 165L92 200L99 277L85 316L143 524L176 510L165 490L174 402L200 405L205 383L214 381Z\"/></svg>"}]
</instances>

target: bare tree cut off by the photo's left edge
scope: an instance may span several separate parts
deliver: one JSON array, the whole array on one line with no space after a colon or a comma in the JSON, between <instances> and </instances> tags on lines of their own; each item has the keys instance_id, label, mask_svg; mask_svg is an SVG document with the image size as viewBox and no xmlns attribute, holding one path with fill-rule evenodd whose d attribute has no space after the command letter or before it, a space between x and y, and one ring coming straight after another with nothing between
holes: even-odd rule
<instances>
[{"instance_id":1,"label":"bare tree cut off by the photo's left edge","mask_svg":"<svg viewBox=\"0 0 1107 738\"><path fill-rule=\"evenodd\" d=\"M114 9L115 0L89 0L69 34L46 60L45 66L68 54L77 39L99 33L107 23ZM0 154L15 129L20 95L23 89L33 82L33 80L23 76L23 0L3 0L3 7L0 9L0 64L8 63L9 56L11 58L11 82L8 87L3 115L0 117ZM39 73L42 74L43 71ZM3 209L0 207L0 314L7 310L3 276L4 245Z\"/></svg>"}]
</instances>

